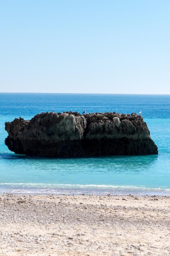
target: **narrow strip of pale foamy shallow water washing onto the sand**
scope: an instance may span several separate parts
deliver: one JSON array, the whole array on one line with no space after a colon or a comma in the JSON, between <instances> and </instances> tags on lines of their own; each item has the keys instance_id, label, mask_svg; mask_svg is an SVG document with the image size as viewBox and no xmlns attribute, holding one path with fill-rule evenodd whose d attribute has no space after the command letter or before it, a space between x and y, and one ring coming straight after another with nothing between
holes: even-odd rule
<instances>
[{"instance_id":1,"label":"narrow strip of pale foamy shallow water washing onto the sand","mask_svg":"<svg viewBox=\"0 0 170 256\"><path fill-rule=\"evenodd\" d=\"M63 186L63 184L62 184ZM70 185L71 186L71 185ZM80 185L84 186L84 185ZM87 185L88 186L88 185ZM93 187L93 186L92 186ZM108 194L115 196L127 196L129 194L133 194L136 196L170 196L170 189L161 189L161 188L138 188L138 187L116 187L113 189L106 188L96 188L95 186L91 189L87 188L86 185L84 188L75 187L4 187L0 186L0 195L5 193L11 193L13 195L82 195L85 194L87 196L96 195L96 196L106 196Z\"/></svg>"}]
</instances>

